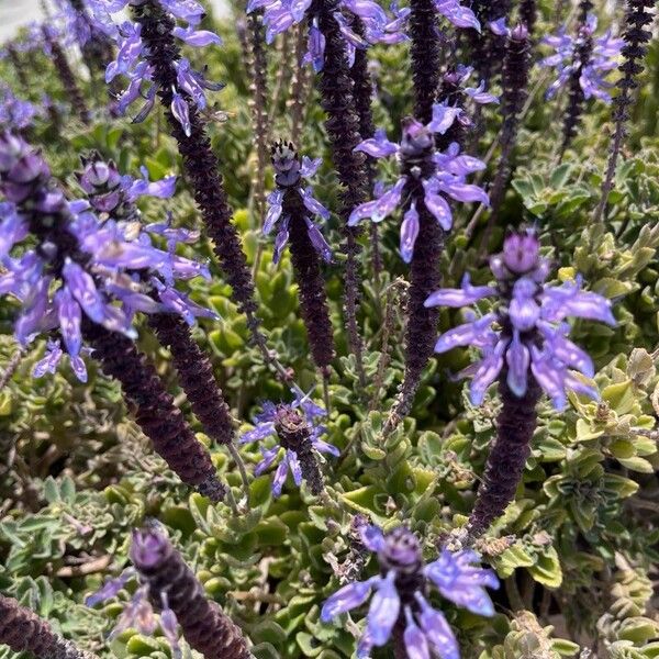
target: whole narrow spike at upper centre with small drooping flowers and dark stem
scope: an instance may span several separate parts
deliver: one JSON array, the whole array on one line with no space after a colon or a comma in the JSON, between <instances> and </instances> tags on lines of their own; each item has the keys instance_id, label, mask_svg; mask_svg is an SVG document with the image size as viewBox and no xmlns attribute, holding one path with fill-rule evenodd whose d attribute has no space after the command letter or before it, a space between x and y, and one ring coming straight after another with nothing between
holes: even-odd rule
<instances>
[{"instance_id":1,"label":"whole narrow spike at upper centre with small drooping flowers and dark stem","mask_svg":"<svg viewBox=\"0 0 659 659\"><path fill-rule=\"evenodd\" d=\"M332 250L319 224L330 219L330 211L313 197L312 188L305 187L321 159L310 160L306 156L300 159L293 145L283 142L275 144L271 154L277 189L268 198L264 233L277 231L275 263L279 260L286 243L290 244L311 353L326 380L334 358L334 333L321 261L332 261Z\"/></svg>"}]
</instances>

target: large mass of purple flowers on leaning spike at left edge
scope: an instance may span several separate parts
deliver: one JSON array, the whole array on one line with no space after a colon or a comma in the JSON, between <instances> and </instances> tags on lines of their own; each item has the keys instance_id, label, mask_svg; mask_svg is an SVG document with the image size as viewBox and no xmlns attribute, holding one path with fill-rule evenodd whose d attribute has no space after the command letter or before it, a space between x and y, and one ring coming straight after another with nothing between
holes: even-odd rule
<instances>
[{"instance_id":1,"label":"large mass of purple flowers on leaning spike at left edge","mask_svg":"<svg viewBox=\"0 0 659 659\"><path fill-rule=\"evenodd\" d=\"M124 183L133 194L149 189L145 181L125 179ZM210 313L172 286L175 279L209 276L203 266L157 249L147 235L130 241L125 227L113 221L101 223L86 201L69 203L52 185L43 157L9 133L0 137L0 191L7 200L0 204L0 263L5 269L0 294L11 294L21 303L16 339L27 345L42 333L58 332L80 380L87 379L80 357L83 314L110 331L135 336L136 311ZM37 237L37 247L13 257L14 246L30 233ZM164 281L152 277L146 289L138 276L144 270L160 273ZM59 342L51 340L36 375L54 371L62 356Z\"/></svg>"}]
</instances>

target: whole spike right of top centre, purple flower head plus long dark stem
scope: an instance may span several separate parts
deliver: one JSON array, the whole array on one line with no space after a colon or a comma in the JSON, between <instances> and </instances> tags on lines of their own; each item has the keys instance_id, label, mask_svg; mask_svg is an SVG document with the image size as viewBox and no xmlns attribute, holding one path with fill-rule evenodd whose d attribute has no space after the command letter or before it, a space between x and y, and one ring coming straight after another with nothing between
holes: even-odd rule
<instances>
[{"instance_id":1,"label":"whole spike right of top centre, purple flower head plus long dark stem","mask_svg":"<svg viewBox=\"0 0 659 659\"><path fill-rule=\"evenodd\" d=\"M367 217L381 222L400 209L403 212L400 253L403 260L411 264L405 377L386 434L392 432L410 411L422 371L433 354L437 315L427 313L424 303L439 280L442 241L453 225L449 200L489 203L482 188L467 182L467 177L484 169L484 164L460 154L457 143L444 153L436 149L436 136L445 133L460 112L458 107L436 103L427 125L411 118L403 122L400 144L390 142L383 131L378 131L375 137L357 147L376 158L395 156L401 170L393 186L387 189L383 183L379 185L375 200L353 210L349 224Z\"/></svg>"}]
</instances>

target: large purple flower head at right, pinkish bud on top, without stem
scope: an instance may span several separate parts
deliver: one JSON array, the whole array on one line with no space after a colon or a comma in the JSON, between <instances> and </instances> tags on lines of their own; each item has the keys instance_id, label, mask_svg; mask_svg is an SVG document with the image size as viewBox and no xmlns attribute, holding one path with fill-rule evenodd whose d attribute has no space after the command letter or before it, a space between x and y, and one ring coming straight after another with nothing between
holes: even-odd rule
<instances>
[{"instance_id":1,"label":"large purple flower head at right, pinkish bud on top, without stem","mask_svg":"<svg viewBox=\"0 0 659 659\"><path fill-rule=\"evenodd\" d=\"M503 253L490 260L495 287L473 287L466 277L461 289L440 289L428 297L426 306L467 306L484 298L499 298L494 312L449 330L435 345L436 353L457 346L479 348L482 359L460 376L472 377L471 401L482 402L488 387L505 372L511 391L522 398L534 377L557 409L565 407L567 390L597 398L592 387L570 373L578 370L592 378L592 360L567 338L568 316L615 325L611 302L582 291L581 281L560 287L545 283L549 264L539 255L532 231L511 233ZM505 366L505 369L504 369Z\"/></svg>"}]
</instances>

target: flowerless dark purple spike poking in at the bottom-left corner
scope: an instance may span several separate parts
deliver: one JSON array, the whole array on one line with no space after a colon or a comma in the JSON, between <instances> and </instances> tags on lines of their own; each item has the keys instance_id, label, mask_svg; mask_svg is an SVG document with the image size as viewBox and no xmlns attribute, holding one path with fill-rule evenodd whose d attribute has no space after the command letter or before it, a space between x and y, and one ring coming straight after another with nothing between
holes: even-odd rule
<instances>
[{"instance_id":1,"label":"flowerless dark purple spike poking in at the bottom-left corner","mask_svg":"<svg viewBox=\"0 0 659 659\"><path fill-rule=\"evenodd\" d=\"M55 634L51 625L12 597L0 594L0 644L37 659L97 659Z\"/></svg>"}]
</instances>

